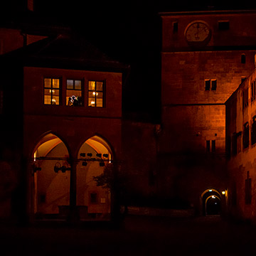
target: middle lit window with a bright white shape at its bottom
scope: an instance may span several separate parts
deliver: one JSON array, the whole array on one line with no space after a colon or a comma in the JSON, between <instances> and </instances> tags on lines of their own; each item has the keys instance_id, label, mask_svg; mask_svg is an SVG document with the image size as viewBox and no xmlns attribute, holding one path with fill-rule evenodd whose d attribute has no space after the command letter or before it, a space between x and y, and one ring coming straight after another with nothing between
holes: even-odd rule
<instances>
[{"instance_id":1,"label":"middle lit window with a bright white shape at its bottom","mask_svg":"<svg viewBox=\"0 0 256 256\"><path fill-rule=\"evenodd\" d=\"M82 106L82 80L67 80L67 106Z\"/></svg>"}]
</instances>

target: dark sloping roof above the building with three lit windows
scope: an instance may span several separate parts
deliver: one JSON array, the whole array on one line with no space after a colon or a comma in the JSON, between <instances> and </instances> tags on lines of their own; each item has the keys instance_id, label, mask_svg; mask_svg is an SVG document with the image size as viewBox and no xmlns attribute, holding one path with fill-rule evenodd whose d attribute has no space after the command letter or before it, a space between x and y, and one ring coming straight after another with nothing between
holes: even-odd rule
<instances>
[{"instance_id":1,"label":"dark sloping roof above the building with three lit windows","mask_svg":"<svg viewBox=\"0 0 256 256\"><path fill-rule=\"evenodd\" d=\"M70 35L50 36L36 43L1 55L0 60L23 65L121 72L129 65L112 60L84 38Z\"/></svg>"}]
</instances>

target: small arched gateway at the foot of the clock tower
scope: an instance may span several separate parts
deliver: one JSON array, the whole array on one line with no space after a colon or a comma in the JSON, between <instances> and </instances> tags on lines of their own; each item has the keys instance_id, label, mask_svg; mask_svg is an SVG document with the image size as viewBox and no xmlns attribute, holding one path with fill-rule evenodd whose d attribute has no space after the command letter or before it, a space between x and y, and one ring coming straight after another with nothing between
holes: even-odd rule
<instances>
[{"instance_id":1,"label":"small arched gateway at the foot of the clock tower","mask_svg":"<svg viewBox=\"0 0 256 256\"><path fill-rule=\"evenodd\" d=\"M221 195L214 189L209 188L201 194L203 215L213 216L221 213Z\"/></svg>"}]
</instances>

